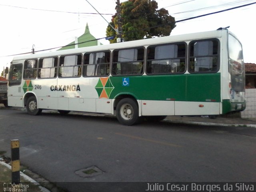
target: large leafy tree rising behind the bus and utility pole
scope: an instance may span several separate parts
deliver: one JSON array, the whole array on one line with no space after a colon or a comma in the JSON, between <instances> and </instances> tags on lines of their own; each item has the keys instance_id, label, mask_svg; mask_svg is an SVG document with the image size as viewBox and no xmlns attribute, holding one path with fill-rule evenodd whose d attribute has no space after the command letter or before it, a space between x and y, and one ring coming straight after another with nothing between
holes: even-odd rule
<instances>
[{"instance_id":1,"label":"large leafy tree rising behind the bus and utility pole","mask_svg":"<svg viewBox=\"0 0 256 192\"><path fill-rule=\"evenodd\" d=\"M132 41L152 38L153 36L169 36L176 27L175 18L169 15L168 10L157 9L158 4L155 0L128 0L121 3L124 40ZM117 13L112 16L110 24L118 28ZM115 36L116 32L108 26L106 35ZM110 43L115 43L116 38L109 40Z\"/></svg>"}]
</instances>

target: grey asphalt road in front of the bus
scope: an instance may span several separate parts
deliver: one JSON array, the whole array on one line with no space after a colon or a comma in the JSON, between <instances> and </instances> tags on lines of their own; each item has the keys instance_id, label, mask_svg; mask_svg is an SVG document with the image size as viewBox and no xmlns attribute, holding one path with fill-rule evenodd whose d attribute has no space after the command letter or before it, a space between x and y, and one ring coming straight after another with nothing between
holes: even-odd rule
<instances>
[{"instance_id":1,"label":"grey asphalt road in front of the bus","mask_svg":"<svg viewBox=\"0 0 256 192\"><path fill-rule=\"evenodd\" d=\"M85 191L84 183L65 182L256 181L256 128L122 126L104 116L30 116L0 108L0 150L10 155L10 139L16 138L22 164L74 192ZM90 166L103 174L75 174Z\"/></svg>"}]
</instances>

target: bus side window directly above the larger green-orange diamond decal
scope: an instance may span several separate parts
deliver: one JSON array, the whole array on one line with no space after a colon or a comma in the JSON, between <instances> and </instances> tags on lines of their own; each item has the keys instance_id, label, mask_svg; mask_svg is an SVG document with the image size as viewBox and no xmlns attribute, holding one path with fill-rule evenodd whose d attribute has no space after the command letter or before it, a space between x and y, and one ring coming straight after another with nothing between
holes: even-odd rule
<instances>
[{"instance_id":1,"label":"bus side window directly above the larger green-orange diamond decal","mask_svg":"<svg viewBox=\"0 0 256 192\"><path fill-rule=\"evenodd\" d=\"M110 72L110 52L84 54L83 76L108 76Z\"/></svg>"}]
</instances>

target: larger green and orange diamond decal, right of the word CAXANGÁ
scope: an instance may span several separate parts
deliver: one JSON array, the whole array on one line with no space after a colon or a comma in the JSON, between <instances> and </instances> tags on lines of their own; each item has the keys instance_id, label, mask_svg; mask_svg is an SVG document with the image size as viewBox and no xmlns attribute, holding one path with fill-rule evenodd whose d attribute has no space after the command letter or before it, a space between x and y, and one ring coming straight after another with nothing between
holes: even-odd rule
<instances>
[{"instance_id":1,"label":"larger green and orange diamond decal, right of the word CAXANG\u00c1","mask_svg":"<svg viewBox=\"0 0 256 192\"><path fill-rule=\"evenodd\" d=\"M100 77L95 89L99 98L109 98L114 86L112 85L109 77Z\"/></svg>"}]
</instances>

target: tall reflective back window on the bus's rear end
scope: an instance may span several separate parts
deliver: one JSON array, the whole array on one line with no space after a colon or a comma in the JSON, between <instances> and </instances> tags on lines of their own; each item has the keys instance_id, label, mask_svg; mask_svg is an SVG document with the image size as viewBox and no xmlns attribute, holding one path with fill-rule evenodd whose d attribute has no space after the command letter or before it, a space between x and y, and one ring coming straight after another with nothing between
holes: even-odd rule
<instances>
[{"instance_id":1,"label":"tall reflective back window on the bus's rear end","mask_svg":"<svg viewBox=\"0 0 256 192\"><path fill-rule=\"evenodd\" d=\"M242 45L231 34L228 36L229 71L231 87L238 92L244 92L245 74Z\"/></svg>"}]
</instances>

